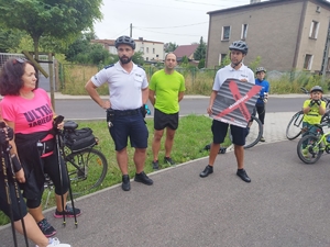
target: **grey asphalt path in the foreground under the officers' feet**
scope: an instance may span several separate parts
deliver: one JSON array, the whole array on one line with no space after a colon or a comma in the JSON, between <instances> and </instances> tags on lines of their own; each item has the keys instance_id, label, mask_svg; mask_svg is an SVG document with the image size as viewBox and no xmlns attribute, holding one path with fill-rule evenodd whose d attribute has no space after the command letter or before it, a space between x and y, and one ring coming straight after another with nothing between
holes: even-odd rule
<instances>
[{"instance_id":1,"label":"grey asphalt path in the foreground under the officers' feet","mask_svg":"<svg viewBox=\"0 0 330 247\"><path fill-rule=\"evenodd\" d=\"M151 173L151 187L132 181L130 192L119 184L77 199L78 228L73 218L64 228L54 209L45 215L73 247L329 247L326 156L305 165L296 141L262 144L245 151L251 183L235 176L231 151L219 155L208 178L198 176L202 158ZM11 246L6 227L0 247Z\"/></svg>"}]
</instances>

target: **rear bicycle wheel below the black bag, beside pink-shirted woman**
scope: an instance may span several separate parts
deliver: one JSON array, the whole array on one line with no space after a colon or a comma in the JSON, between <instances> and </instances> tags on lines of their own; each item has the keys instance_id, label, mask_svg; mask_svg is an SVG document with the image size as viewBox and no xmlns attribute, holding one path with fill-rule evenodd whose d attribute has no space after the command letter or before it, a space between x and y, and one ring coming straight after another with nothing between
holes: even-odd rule
<instances>
[{"instance_id":1,"label":"rear bicycle wheel below the black bag, beside pink-shirted woman","mask_svg":"<svg viewBox=\"0 0 330 247\"><path fill-rule=\"evenodd\" d=\"M81 195L99 187L106 178L108 161L95 148L72 153L66 157L73 195Z\"/></svg>"}]
</instances>

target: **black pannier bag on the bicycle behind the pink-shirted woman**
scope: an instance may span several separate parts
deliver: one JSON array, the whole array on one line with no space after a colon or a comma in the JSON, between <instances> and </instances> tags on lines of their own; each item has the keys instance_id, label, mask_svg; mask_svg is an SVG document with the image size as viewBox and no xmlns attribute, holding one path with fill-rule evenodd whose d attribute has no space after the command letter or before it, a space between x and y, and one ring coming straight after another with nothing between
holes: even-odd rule
<instances>
[{"instance_id":1,"label":"black pannier bag on the bicycle behind the pink-shirted woman","mask_svg":"<svg viewBox=\"0 0 330 247\"><path fill-rule=\"evenodd\" d=\"M64 143L73 151L78 151L95 145L96 138L91 128L82 127L80 130L65 133Z\"/></svg>"}]
</instances>

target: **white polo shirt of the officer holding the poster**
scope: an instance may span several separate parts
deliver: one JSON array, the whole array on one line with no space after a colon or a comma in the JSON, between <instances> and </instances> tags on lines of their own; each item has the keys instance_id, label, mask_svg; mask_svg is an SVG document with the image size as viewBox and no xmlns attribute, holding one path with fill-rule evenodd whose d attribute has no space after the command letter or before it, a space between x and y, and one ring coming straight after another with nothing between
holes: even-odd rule
<instances>
[{"instance_id":1,"label":"white polo shirt of the officer holding the poster","mask_svg":"<svg viewBox=\"0 0 330 247\"><path fill-rule=\"evenodd\" d=\"M221 85L229 78L239 80L246 79L248 82L252 85L255 83L254 74L250 68L248 68L248 66L242 64L241 68L235 70L233 67L231 67L231 65L228 65L217 71L212 89L215 91L219 91Z\"/></svg>"}]
</instances>

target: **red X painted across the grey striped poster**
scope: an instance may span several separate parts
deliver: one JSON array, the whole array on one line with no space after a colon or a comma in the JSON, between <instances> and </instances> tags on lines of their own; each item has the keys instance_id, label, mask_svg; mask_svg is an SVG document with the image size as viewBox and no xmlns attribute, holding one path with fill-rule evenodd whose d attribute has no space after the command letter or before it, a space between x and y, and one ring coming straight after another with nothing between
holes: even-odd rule
<instances>
[{"instance_id":1,"label":"red X painted across the grey striped poster","mask_svg":"<svg viewBox=\"0 0 330 247\"><path fill-rule=\"evenodd\" d=\"M250 100L252 97L254 97L256 93L258 93L261 87L260 86L253 86L244 97L241 96L239 87L234 81L229 82L229 88L230 88L230 91L231 91L232 97L235 100L235 102L233 104L229 105L228 109L220 112L217 115L217 117L222 117L222 116L227 115L228 113L232 112L233 110L240 108L240 111L241 111L242 115L249 122L250 119L251 119L251 114L250 114L250 112L249 112L249 110L245 105L245 102L248 100Z\"/></svg>"}]
</instances>

